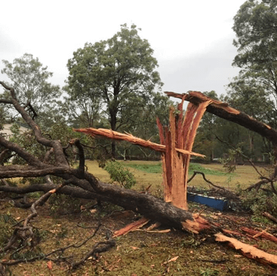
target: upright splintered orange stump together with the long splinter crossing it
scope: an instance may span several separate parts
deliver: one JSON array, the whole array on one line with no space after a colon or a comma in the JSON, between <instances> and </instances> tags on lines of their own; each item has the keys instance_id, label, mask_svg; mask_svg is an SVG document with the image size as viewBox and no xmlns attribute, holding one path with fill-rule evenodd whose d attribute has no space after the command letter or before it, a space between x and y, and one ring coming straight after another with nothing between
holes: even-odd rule
<instances>
[{"instance_id":1,"label":"upright splintered orange stump together with the long splinter crossing it","mask_svg":"<svg viewBox=\"0 0 277 276\"><path fill-rule=\"evenodd\" d=\"M191 92L195 93L195 92ZM190 94L191 94L190 93ZM199 153L193 153L193 142L195 139L197 127L206 110L206 107L213 103L213 99L204 97L202 93L196 92L201 101L198 103L189 103L186 113L183 116L183 103L186 94L182 95L182 102L178 109L173 107L169 111L169 126L163 127L157 118L158 129L160 133L160 144L143 140L132 136L132 134L121 134L110 129L74 129L75 131L90 134L92 136L101 136L114 140L125 140L141 147L148 147L162 153L162 171L164 199L171 202L182 210L188 210L186 202L186 183L188 179L189 160L191 155L204 157ZM177 96L176 96L177 95ZM180 97L180 95L171 95Z\"/></svg>"}]
</instances>

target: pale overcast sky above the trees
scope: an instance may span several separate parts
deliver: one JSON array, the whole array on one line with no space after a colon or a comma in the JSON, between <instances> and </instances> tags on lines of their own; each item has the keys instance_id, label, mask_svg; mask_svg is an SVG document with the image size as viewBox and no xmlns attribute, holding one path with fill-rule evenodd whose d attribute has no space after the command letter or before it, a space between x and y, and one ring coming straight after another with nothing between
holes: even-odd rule
<instances>
[{"instance_id":1,"label":"pale overcast sky above the trees","mask_svg":"<svg viewBox=\"0 0 277 276\"><path fill-rule=\"evenodd\" d=\"M51 83L64 86L67 61L86 42L112 37L120 25L134 23L158 60L162 90L226 93L239 72L232 67L233 17L245 0L103 0L1 3L1 60L32 53L53 72ZM1 80L7 80L0 73Z\"/></svg>"}]
</instances>

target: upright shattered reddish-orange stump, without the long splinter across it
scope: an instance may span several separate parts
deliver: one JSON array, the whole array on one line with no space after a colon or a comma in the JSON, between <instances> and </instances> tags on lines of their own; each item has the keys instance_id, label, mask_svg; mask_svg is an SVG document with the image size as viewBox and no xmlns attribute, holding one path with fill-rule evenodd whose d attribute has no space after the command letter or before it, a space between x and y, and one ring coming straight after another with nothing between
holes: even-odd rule
<instances>
[{"instance_id":1,"label":"upright shattered reddish-orange stump, without the long splinter across it","mask_svg":"<svg viewBox=\"0 0 277 276\"><path fill-rule=\"evenodd\" d=\"M165 153L162 153L164 199L180 209L188 210L186 190L191 154L180 154L177 149L191 152L197 128L212 100L207 99L199 104L189 103L184 117L183 103L184 97L177 112L171 107L169 127L162 127L158 118L157 125L160 143L166 147Z\"/></svg>"}]
</instances>

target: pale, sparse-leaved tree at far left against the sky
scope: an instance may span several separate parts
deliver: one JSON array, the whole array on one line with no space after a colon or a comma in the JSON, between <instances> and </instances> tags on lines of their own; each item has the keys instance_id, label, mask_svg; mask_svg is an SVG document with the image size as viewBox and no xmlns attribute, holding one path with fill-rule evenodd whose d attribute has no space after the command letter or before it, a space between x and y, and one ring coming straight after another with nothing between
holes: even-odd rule
<instances>
[{"instance_id":1,"label":"pale, sparse-leaved tree at far left against the sky","mask_svg":"<svg viewBox=\"0 0 277 276\"><path fill-rule=\"evenodd\" d=\"M3 64L5 68L1 73L10 78L10 86L16 89L17 97L25 104L31 103L36 113L41 115L40 119L43 118L43 113L46 117L48 113L49 118L53 118L53 114L60 114L58 109L56 112L52 110L61 95L60 88L49 83L48 79L53 73L47 71L47 66L43 66L38 58L25 53L12 63L3 60Z\"/></svg>"}]
</instances>

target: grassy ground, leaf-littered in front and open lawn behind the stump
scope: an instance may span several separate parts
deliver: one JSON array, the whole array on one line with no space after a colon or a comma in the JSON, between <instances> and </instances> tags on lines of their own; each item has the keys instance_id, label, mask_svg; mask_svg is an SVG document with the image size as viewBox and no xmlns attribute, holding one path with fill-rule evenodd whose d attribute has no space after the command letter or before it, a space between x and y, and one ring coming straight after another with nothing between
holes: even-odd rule
<instances>
[{"instance_id":1,"label":"grassy ground, leaf-littered in front and open lawn behind the stump","mask_svg":"<svg viewBox=\"0 0 277 276\"><path fill-rule=\"evenodd\" d=\"M124 165L134 172L137 184L136 190L143 190L152 184L150 192L154 195L162 195L162 174L159 171L159 162L123 162ZM110 181L108 173L98 167L97 162L86 162L88 171L93 173L101 181ZM192 167L193 169L199 167ZM238 166L232 175L226 175L224 168L219 164L202 165L207 179L215 184L235 188L237 184L243 187L249 186L257 181L258 177L250 166ZM190 183L191 186L208 188L208 185L200 175L197 175ZM55 201L53 201L55 203ZM87 201L72 201L63 198L56 201L56 205L46 205L38 208L38 216L33 225L38 229L40 252L48 253L53 249L65 247L75 242L80 242L93 234L99 218L102 227L95 238L84 244L84 246L64 251L63 255L70 256L67 262L52 263L52 269L47 266L47 261L23 263L10 268L11 275L21 276L60 276L60 275L122 275L122 276L144 276L144 275L276 275L268 267L262 266L255 261L242 257L237 251L229 249L224 244L218 244L207 234L191 235L171 229L169 233L147 233L145 231L134 231L126 236L116 239L116 247L106 253L101 253L97 260L88 260L84 266L76 271L68 271L72 260L81 260L86 252L91 250L95 242L105 240L107 229L115 231L124 225L136 220L138 216L130 214L123 216L119 208L104 204L101 210L91 210L93 205ZM62 202L62 203L60 203ZM87 209L86 209L87 207ZM189 203L191 212L200 212L203 207L195 203ZM1 203L0 214L8 215L16 221L20 221L29 214L29 210L14 208L12 203ZM275 225L253 225L249 215L237 213L218 212L213 209L205 210L202 215L213 218L227 229L239 231L239 227L256 227L256 229L276 229ZM1 220L0 220L1 222ZM2 234L8 225L14 222L0 225ZM277 231L277 229L276 229ZM3 235L0 233L0 242ZM239 238L239 237L237 237ZM241 240L241 238L239 238ZM251 238L242 238L244 242L256 244L257 247L277 253L277 246L272 242ZM29 254L39 253L38 249L31 249ZM52 257L57 257L58 254ZM0 256L8 258L8 255ZM14 255L14 258L20 255ZM170 262L169 262L170 261Z\"/></svg>"}]
</instances>

